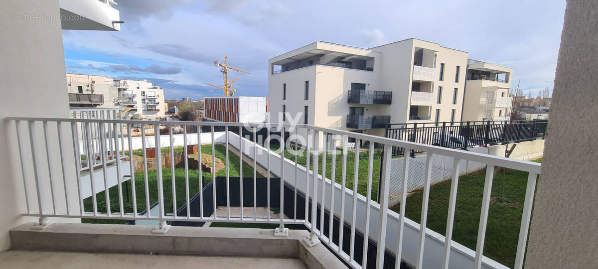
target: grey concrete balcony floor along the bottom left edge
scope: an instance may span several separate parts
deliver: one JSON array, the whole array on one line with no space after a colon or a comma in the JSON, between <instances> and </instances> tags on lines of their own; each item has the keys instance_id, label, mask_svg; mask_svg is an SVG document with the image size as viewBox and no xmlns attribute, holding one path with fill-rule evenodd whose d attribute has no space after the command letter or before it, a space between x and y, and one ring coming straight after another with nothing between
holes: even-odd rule
<instances>
[{"instance_id":1,"label":"grey concrete balcony floor along the bottom left edge","mask_svg":"<svg viewBox=\"0 0 598 269\"><path fill-rule=\"evenodd\" d=\"M307 268L300 259L9 250L1 268Z\"/></svg>"}]
</instances>

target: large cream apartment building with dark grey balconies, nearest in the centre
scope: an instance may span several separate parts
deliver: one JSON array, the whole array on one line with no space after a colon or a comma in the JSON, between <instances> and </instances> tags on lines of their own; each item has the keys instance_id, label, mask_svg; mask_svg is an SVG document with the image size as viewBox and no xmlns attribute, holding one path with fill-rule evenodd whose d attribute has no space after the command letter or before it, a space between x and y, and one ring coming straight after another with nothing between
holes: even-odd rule
<instances>
[{"instance_id":1,"label":"large cream apartment building with dark grey balconies, nearest in the centre","mask_svg":"<svg viewBox=\"0 0 598 269\"><path fill-rule=\"evenodd\" d=\"M415 38L369 49L313 42L269 60L270 121L378 136L388 123L458 121L467 57Z\"/></svg>"}]
</instances>

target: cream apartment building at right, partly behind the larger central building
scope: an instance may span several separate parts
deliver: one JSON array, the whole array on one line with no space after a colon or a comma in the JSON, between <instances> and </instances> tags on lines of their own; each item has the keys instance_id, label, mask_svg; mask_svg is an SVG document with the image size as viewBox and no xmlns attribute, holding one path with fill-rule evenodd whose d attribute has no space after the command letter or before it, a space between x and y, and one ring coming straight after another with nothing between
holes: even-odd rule
<instances>
[{"instance_id":1,"label":"cream apartment building at right, partly behind the larger central building","mask_svg":"<svg viewBox=\"0 0 598 269\"><path fill-rule=\"evenodd\" d=\"M468 59L461 120L509 120L512 73L512 68Z\"/></svg>"}]
</instances>

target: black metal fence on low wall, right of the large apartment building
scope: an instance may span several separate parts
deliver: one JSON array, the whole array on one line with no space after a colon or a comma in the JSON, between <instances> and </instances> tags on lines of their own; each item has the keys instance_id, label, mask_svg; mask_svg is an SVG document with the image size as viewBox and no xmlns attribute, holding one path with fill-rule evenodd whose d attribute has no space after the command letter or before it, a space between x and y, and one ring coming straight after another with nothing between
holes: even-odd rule
<instances>
[{"instance_id":1,"label":"black metal fence on low wall, right of the large apartment building","mask_svg":"<svg viewBox=\"0 0 598 269\"><path fill-rule=\"evenodd\" d=\"M385 136L446 148L469 148L544 139L547 125L548 120L388 124ZM404 152L393 148L392 154Z\"/></svg>"}]
</instances>

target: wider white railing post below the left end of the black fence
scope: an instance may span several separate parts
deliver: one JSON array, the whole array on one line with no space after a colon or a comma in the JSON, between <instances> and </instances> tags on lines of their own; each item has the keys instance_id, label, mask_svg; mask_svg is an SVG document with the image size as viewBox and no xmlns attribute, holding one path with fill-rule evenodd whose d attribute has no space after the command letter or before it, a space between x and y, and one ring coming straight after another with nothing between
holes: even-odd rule
<instances>
[{"instance_id":1,"label":"wider white railing post below the left end of the black fence","mask_svg":"<svg viewBox=\"0 0 598 269\"><path fill-rule=\"evenodd\" d=\"M357 143L355 143L357 145ZM357 148L357 146L355 146ZM390 170L392 165L392 145L384 145L382 175L380 176L380 226L378 227L378 248L376 250L376 268L384 265L386 247L386 220L388 218L388 193L390 188Z\"/></svg>"}]
</instances>

